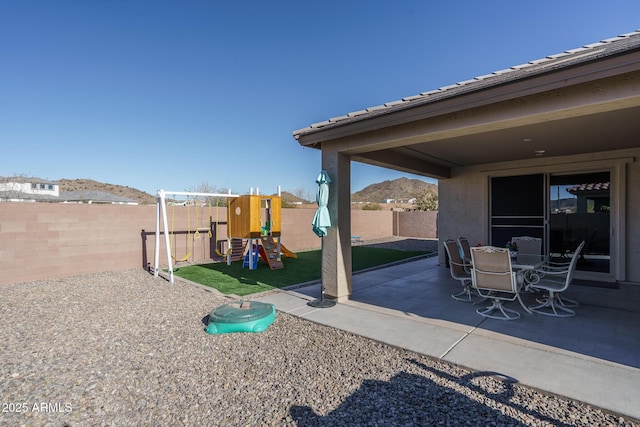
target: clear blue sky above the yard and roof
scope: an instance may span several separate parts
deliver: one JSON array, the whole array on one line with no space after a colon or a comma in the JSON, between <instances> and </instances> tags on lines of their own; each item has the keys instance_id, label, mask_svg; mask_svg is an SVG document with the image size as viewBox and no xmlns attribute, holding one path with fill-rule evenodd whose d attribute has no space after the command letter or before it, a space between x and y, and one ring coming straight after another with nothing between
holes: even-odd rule
<instances>
[{"instance_id":1,"label":"clear blue sky above the yard and roof","mask_svg":"<svg viewBox=\"0 0 640 427\"><path fill-rule=\"evenodd\" d=\"M0 176L313 195L320 152L294 130L638 17L637 0L1 1ZM402 176L353 163L352 190Z\"/></svg>"}]
</instances>

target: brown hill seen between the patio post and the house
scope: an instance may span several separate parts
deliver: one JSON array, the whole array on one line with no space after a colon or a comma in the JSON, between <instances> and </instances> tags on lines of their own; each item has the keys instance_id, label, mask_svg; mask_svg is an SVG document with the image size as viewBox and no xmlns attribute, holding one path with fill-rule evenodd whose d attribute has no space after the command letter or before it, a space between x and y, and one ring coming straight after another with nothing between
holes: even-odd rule
<instances>
[{"instance_id":1,"label":"brown hill seen between the patio post and the house","mask_svg":"<svg viewBox=\"0 0 640 427\"><path fill-rule=\"evenodd\" d=\"M352 202L380 203L385 199L409 200L425 192L438 193L438 186L419 179L398 178L371 184L351 195Z\"/></svg>"}]
</instances>

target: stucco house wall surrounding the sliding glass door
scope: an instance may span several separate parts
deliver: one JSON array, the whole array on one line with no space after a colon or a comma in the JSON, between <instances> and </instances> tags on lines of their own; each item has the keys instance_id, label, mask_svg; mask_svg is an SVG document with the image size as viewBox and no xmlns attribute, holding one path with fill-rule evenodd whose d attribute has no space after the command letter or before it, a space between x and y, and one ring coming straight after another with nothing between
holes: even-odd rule
<instances>
[{"instance_id":1,"label":"stucco house wall surrounding the sliding glass door","mask_svg":"<svg viewBox=\"0 0 640 427\"><path fill-rule=\"evenodd\" d=\"M472 245L489 242L491 176L610 170L613 191L622 192L618 206L621 210L620 223L616 226L612 222L615 233L620 233L614 239L617 241L619 238L616 244L624 259L624 271L616 275L624 281L640 283L640 239L637 238L640 236L640 221L637 220L640 218L640 186L636 184L640 182L638 159L640 148L455 169L450 179L438 182L438 237L444 241L465 236ZM615 182L616 179L618 182ZM442 245L438 256L443 264L445 254Z\"/></svg>"}]
</instances>

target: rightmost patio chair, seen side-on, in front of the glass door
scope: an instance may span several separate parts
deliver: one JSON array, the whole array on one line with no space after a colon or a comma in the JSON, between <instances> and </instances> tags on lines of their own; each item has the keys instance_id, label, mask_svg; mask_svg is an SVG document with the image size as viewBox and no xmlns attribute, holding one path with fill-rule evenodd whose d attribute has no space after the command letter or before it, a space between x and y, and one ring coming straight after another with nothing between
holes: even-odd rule
<instances>
[{"instance_id":1,"label":"rightmost patio chair, seen side-on, in front of the glass door","mask_svg":"<svg viewBox=\"0 0 640 427\"><path fill-rule=\"evenodd\" d=\"M544 292L544 296L538 298L539 305L529 307L534 313L544 314L545 316L554 317L571 317L575 316L575 311L571 308L578 306L578 302L563 298L561 294L569 288L573 280L573 273L576 270L580 252L584 247L584 240L576 248L569 266L554 267L545 265L542 269L536 270L535 275L539 277L537 282L529 285L534 290Z\"/></svg>"}]
</instances>

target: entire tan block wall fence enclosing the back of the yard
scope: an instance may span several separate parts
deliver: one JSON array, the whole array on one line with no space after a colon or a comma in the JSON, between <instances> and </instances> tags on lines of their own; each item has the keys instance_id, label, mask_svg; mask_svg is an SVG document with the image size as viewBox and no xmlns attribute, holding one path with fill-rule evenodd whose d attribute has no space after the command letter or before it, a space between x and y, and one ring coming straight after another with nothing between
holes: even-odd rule
<instances>
[{"instance_id":1,"label":"entire tan block wall fence enclosing the back of the yard","mask_svg":"<svg viewBox=\"0 0 640 427\"><path fill-rule=\"evenodd\" d=\"M291 251L320 248L311 231L314 209L282 210L282 243ZM226 208L167 207L168 231L176 258L219 259L214 241L196 227L217 224L217 240L226 240ZM352 235L363 240L390 236L437 238L437 212L353 210ZM162 222L160 229L162 230ZM173 233L171 233L173 231ZM0 203L0 285L41 279L147 269L154 263L156 206ZM175 244L174 244L175 242ZM164 237L160 265L166 266Z\"/></svg>"}]
</instances>

